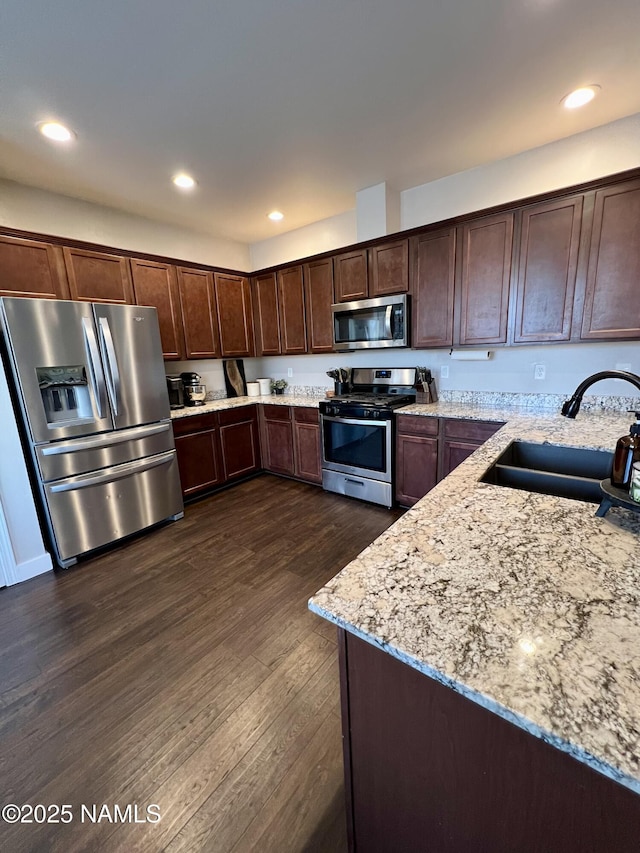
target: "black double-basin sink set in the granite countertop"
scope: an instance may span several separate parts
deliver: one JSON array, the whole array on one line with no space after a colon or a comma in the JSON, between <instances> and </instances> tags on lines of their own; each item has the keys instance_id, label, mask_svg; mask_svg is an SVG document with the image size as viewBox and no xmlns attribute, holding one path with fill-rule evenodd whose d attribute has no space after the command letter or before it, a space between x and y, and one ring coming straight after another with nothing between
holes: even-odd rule
<instances>
[{"instance_id":1,"label":"black double-basin sink set in the granite countertop","mask_svg":"<svg viewBox=\"0 0 640 853\"><path fill-rule=\"evenodd\" d=\"M611 476L612 464L606 450L514 441L481 482L600 503L600 481Z\"/></svg>"}]
</instances>

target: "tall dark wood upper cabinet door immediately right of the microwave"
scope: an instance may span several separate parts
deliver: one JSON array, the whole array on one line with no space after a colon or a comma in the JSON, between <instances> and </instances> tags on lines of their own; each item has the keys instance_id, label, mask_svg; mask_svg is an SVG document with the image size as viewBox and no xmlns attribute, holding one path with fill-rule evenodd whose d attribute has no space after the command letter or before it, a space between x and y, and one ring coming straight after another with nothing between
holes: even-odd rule
<instances>
[{"instance_id":1,"label":"tall dark wood upper cabinet door immediately right of the microwave","mask_svg":"<svg viewBox=\"0 0 640 853\"><path fill-rule=\"evenodd\" d=\"M456 229L433 231L411 239L412 346L453 344L453 298Z\"/></svg>"}]
</instances>

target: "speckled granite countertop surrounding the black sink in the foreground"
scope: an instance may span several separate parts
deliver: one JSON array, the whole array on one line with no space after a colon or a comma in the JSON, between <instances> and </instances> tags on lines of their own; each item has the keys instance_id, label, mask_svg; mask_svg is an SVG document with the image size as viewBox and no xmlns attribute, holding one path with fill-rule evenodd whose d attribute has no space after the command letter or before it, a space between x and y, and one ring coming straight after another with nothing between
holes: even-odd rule
<instances>
[{"instance_id":1,"label":"speckled granite countertop surrounding the black sink in the foreground","mask_svg":"<svg viewBox=\"0 0 640 853\"><path fill-rule=\"evenodd\" d=\"M633 416L402 411L506 424L310 609L640 793L640 516L479 482L514 439L612 450Z\"/></svg>"}]
</instances>

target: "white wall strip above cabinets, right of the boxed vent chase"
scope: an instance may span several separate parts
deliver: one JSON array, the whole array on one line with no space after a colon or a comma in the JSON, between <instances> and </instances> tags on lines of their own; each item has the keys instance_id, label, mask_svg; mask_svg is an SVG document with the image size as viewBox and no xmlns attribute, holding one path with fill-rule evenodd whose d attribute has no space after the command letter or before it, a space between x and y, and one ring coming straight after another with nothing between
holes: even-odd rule
<instances>
[{"instance_id":1,"label":"white wall strip above cabinets, right of the boxed vent chase","mask_svg":"<svg viewBox=\"0 0 640 853\"><path fill-rule=\"evenodd\" d=\"M402 228L417 228L496 204L640 166L640 113L401 194Z\"/></svg>"}]
</instances>

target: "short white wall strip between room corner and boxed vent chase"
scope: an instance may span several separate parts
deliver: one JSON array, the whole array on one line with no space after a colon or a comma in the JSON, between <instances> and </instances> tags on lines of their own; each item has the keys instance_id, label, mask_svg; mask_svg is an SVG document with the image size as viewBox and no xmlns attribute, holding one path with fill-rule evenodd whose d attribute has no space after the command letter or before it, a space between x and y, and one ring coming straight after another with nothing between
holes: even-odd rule
<instances>
[{"instance_id":1,"label":"short white wall strip between room corner and boxed vent chase","mask_svg":"<svg viewBox=\"0 0 640 853\"><path fill-rule=\"evenodd\" d=\"M355 201L355 200L354 200ZM266 269L278 264L330 252L357 243L356 211L347 210L329 219L321 219L303 228L270 237L250 247L251 270Z\"/></svg>"}]
</instances>

